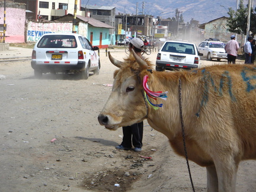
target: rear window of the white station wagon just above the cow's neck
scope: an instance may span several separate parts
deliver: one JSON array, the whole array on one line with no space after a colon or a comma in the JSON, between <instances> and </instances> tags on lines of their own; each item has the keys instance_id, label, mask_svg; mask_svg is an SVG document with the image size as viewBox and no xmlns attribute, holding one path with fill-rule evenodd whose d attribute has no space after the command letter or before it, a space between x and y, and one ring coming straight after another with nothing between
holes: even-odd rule
<instances>
[{"instance_id":1,"label":"rear window of the white station wagon just above the cow's neck","mask_svg":"<svg viewBox=\"0 0 256 192\"><path fill-rule=\"evenodd\" d=\"M193 44L177 42L165 43L164 47L162 48L162 52L185 53L190 55L196 54Z\"/></svg>"}]
</instances>

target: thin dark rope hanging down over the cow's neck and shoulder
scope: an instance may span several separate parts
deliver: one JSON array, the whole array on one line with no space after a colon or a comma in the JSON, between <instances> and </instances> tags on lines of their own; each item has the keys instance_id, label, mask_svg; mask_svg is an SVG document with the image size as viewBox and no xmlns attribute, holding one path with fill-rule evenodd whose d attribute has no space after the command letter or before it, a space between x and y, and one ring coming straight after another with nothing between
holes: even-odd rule
<instances>
[{"instance_id":1,"label":"thin dark rope hanging down over the cow's neck and shoulder","mask_svg":"<svg viewBox=\"0 0 256 192\"><path fill-rule=\"evenodd\" d=\"M193 191L195 192L194 190L194 184L193 184L193 180L192 180L192 176L191 176L191 172L190 172L190 165L188 163L188 156L187 156L187 148L186 148L186 145L185 145L185 131L184 131L184 121L183 121L183 114L182 114L182 95L181 95L181 78L179 78L179 104L180 104L180 118L181 118L181 129L183 131L183 145L184 145L184 152L185 152L185 158L186 158L186 161L187 161L187 167L188 167L188 173L190 175L190 182L191 182L191 185L192 185L192 189Z\"/></svg>"}]
</instances>

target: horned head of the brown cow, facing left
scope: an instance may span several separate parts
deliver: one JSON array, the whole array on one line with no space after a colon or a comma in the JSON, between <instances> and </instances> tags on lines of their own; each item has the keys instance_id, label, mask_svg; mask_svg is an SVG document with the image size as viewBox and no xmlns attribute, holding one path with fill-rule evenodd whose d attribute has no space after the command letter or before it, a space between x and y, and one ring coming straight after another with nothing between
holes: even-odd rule
<instances>
[{"instance_id":1,"label":"horned head of the brown cow, facing left","mask_svg":"<svg viewBox=\"0 0 256 192\"><path fill-rule=\"evenodd\" d=\"M133 51L133 50L132 50ZM133 51L124 62L108 57L119 69L114 72L114 83L110 97L98 116L98 121L107 129L116 130L145 119L148 108L143 97L143 76L149 75L152 63L142 60Z\"/></svg>"}]
</instances>

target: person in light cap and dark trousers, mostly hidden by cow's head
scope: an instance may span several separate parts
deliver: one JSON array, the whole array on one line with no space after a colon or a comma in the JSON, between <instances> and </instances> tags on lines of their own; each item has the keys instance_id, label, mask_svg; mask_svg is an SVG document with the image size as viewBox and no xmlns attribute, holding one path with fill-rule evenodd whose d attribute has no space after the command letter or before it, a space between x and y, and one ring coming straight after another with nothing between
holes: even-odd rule
<instances>
[{"instance_id":1,"label":"person in light cap and dark trousers, mostly hidden by cow's head","mask_svg":"<svg viewBox=\"0 0 256 192\"><path fill-rule=\"evenodd\" d=\"M129 51L132 53L132 49L135 53L142 59L144 57L141 55L144 43L139 38L133 38L129 42ZM132 124L131 126L123 127L123 142L121 145L117 145L116 149L130 150L132 145L135 147L133 151L142 151L142 137L143 137L143 121L140 123Z\"/></svg>"}]
</instances>

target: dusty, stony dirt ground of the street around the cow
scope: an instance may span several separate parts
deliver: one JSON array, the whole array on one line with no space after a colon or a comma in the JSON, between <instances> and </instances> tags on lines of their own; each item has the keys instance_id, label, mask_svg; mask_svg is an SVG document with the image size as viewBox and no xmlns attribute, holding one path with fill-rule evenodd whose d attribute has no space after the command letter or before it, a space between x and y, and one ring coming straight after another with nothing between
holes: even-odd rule
<instances>
[{"instance_id":1,"label":"dusty, stony dirt ground of the street around the cow","mask_svg":"<svg viewBox=\"0 0 256 192\"><path fill-rule=\"evenodd\" d=\"M126 56L110 51L119 60ZM155 63L156 53L149 57ZM146 121L140 153L116 150L121 129L99 125L115 69L105 50L100 75L88 80L61 74L34 79L29 60L0 63L0 191L192 191L185 159ZM256 161L240 164L237 191L256 191L255 167ZM196 191L206 191L205 168L193 162L190 168Z\"/></svg>"}]
</instances>

